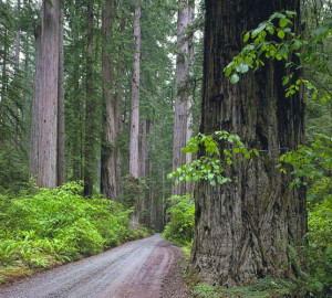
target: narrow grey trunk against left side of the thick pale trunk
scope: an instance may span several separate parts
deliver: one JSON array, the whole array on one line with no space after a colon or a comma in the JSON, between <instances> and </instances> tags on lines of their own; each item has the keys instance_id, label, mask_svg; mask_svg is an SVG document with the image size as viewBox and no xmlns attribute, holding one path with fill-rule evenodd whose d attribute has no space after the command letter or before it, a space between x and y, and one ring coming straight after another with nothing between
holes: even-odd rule
<instances>
[{"instance_id":1,"label":"narrow grey trunk against left side of the thick pale trunk","mask_svg":"<svg viewBox=\"0 0 332 298\"><path fill-rule=\"evenodd\" d=\"M38 175L38 143L39 143L39 113L41 103L41 82L42 82L42 45L41 45L41 26L34 29L34 88L32 102L32 125L30 142L30 167L29 177Z\"/></svg>"}]
</instances>

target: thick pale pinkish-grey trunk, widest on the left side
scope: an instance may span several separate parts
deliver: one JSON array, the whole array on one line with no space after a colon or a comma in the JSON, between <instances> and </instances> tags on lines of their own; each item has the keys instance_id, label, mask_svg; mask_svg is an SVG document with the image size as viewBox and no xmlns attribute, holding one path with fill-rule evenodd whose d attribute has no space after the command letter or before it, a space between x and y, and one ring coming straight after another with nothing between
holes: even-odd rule
<instances>
[{"instance_id":1,"label":"thick pale pinkish-grey trunk, widest on the left side","mask_svg":"<svg viewBox=\"0 0 332 298\"><path fill-rule=\"evenodd\" d=\"M38 185L56 185L59 17L58 0L42 8L42 82L39 121Z\"/></svg>"}]
</instances>

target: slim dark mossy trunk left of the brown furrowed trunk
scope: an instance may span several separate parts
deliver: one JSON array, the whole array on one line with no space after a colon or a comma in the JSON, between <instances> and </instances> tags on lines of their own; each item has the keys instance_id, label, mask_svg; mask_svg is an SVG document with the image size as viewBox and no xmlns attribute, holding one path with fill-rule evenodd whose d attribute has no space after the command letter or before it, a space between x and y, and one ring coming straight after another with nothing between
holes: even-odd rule
<instances>
[{"instance_id":1,"label":"slim dark mossy trunk left of the brown furrowed trunk","mask_svg":"<svg viewBox=\"0 0 332 298\"><path fill-rule=\"evenodd\" d=\"M87 2L86 107L85 107L85 164L84 195L93 194L96 103L93 75L93 1Z\"/></svg>"}]
</instances>

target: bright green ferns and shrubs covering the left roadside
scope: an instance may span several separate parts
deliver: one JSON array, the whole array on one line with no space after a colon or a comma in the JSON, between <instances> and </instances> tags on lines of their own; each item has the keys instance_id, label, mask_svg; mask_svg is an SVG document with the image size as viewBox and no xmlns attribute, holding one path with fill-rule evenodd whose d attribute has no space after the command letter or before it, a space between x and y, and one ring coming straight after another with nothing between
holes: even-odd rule
<instances>
[{"instance_id":1,"label":"bright green ferns and shrubs covering the left roadside","mask_svg":"<svg viewBox=\"0 0 332 298\"><path fill-rule=\"evenodd\" d=\"M0 284L149 234L129 227L132 210L81 193L82 187L71 182L14 198L0 194Z\"/></svg>"}]
</instances>

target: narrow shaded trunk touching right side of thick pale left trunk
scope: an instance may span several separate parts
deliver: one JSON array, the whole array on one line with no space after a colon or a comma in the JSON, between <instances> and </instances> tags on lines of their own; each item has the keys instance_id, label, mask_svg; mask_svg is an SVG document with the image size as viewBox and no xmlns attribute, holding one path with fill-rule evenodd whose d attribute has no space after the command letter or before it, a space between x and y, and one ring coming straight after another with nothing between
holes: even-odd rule
<instances>
[{"instance_id":1,"label":"narrow shaded trunk touching right side of thick pale left trunk","mask_svg":"<svg viewBox=\"0 0 332 298\"><path fill-rule=\"evenodd\" d=\"M64 126L64 57L63 57L63 9L59 29L59 83L58 83L58 184L65 183L65 126Z\"/></svg>"}]
</instances>

